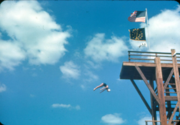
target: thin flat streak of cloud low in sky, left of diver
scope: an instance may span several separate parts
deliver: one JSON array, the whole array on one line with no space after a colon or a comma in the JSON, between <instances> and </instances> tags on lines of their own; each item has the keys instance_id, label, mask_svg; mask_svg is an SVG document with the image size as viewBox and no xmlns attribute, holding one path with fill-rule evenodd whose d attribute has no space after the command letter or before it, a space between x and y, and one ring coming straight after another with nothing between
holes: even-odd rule
<instances>
[{"instance_id":1,"label":"thin flat streak of cloud low in sky, left of diver","mask_svg":"<svg viewBox=\"0 0 180 125\"><path fill-rule=\"evenodd\" d=\"M70 104L52 104L53 108L67 108L67 109L76 109L76 110L80 110L81 107L79 105L77 106L71 106Z\"/></svg>"}]
</instances>

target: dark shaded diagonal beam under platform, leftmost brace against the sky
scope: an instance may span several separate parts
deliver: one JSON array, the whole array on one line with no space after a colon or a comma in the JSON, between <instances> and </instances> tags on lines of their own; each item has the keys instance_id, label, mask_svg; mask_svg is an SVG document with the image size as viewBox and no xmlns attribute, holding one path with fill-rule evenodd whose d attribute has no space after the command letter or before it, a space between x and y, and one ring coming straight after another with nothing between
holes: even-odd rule
<instances>
[{"instance_id":1,"label":"dark shaded diagonal beam under platform, leftmost brace against the sky","mask_svg":"<svg viewBox=\"0 0 180 125\"><path fill-rule=\"evenodd\" d=\"M141 91L139 90L139 88L137 87L136 83L134 82L133 79L130 79L134 88L136 89L136 91L138 92L139 96L141 97L142 101L144 102L146 108L149 110L149 113L152 115L151 113L151 108L149 106L149 104L147 103L146 99L144 98L144 96L142 95Z\"/></svg>"}]
</instances>

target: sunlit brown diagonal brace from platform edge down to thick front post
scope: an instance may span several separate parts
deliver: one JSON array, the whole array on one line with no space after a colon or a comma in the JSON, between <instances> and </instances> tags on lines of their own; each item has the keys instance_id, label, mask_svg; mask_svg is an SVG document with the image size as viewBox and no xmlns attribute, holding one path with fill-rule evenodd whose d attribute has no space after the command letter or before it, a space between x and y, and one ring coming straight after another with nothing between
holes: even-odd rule
<instances>
[{"instance_id":1,"label":"sunlit brown diagonal brace from platform edge down to thick front post","mask_svg":"<svg viewBox=\"0 0 180 125\"><path fill-rule=\"evenodd\" d=\"M152 89L151 85L148 83L146 77L144 76L144 74L142 73L141 69L138 66L135 66L137 71L139 72L141 78L143 79L143 81L145 82L146 86L149 88L151 94L154 96L154 98L156 99L156 101L159 104L159 98L157 97L156 93L154 92L154 90Z\"/></svg>"}]
</instances>

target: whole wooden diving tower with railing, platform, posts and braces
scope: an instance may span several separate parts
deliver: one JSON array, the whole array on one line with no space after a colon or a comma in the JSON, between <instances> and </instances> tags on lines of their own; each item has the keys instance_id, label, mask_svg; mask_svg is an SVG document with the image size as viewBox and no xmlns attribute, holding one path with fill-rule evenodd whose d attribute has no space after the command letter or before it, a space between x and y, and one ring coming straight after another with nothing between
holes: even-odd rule
<instances>
[{"instance_id":1,"label":"whole wooden diving tower with railing, platform, posts and braces","mask_svg":"<svg viewBox=\"0 0 180 125\"><path fill-rule=\"evenodd\" d=\"M120 79L129 79L132 82L152 115L152 121L146 121L146 125L149 122L153 125L158 122L161 125L174 125L180 117L180 53L176 53L174 49L171 53L128 51L128 56L129 62L122 64ZM151 106L134 80L143 80L148 87ZM160 121L157 121L157 112Z\"/></svg>"}]
</instances>

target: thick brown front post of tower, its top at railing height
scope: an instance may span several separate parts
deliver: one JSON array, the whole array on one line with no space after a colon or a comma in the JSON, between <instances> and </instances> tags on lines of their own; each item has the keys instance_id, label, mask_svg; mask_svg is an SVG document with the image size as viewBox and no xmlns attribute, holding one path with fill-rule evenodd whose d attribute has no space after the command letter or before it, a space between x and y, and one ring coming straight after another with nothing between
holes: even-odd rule
<instances>
[{"instance_id":1,"label":"thick brown front post of tower, its top at railing height","mask_svg":"<svg viewBox=\"0 0 180 125\"><path fill-rule=\"evenodd\" d=\"M163 77L162 77L162 68L161 68L160 58L156 57L155 62L156 62L156 83L157 83L157 89L158 89L158 97L160 100L160 103L159 103L160 121L161 121L161 125L167 125Z\"/></svg>"}]
</instances>

